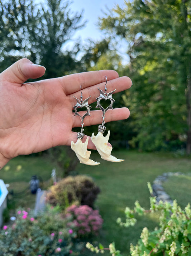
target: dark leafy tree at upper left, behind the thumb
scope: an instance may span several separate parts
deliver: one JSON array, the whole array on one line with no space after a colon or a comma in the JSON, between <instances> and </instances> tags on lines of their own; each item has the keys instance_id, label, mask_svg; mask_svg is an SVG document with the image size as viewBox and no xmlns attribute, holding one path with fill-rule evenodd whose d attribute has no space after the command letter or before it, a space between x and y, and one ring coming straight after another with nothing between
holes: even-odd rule
<instances>
[{"instance_id":1,"label":"dark leafy tree at upper left, behind the thumb","mask_svg":"<svg viewBox=\"0 0 191 256\"><path fill-rule=\"evenodd\" d=\"M70 52L63 52L62 46L84 26L81 20L82 12L73 14L65 0L1 0L0 69L21 57L44 65L48 72L43 78L80 69L75 60L78 45Z\"/></svg>"}]
</instances>

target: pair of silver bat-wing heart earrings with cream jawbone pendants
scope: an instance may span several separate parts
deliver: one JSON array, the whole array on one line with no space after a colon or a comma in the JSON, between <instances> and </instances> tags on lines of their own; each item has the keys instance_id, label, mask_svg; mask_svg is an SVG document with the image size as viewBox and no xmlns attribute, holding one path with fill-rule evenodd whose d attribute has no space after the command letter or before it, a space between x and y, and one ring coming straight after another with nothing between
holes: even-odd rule
<instances>
[{"instance_id":1,"label":"pair of silver bat-wing heart earrings with cream jawbone pendants","mask_svg":"<svg viewBox=\"0 0 191 256\"><path fill-rule=\"evenodd\" d=\"M106 130L106 127L104 126L105 121L105 112L108 109L113 109L113 103L114 103L114 99L112 98L112 94L114 93L114 91L110 91L110 93L107 93L107 77L106 78L106 84L105 84L105 93L104 91L100 90L98 87L98 90L100 91L100 96L98 98L96 98L97 100L97 105L96 108L100 108L102 111L102 124L99 125L98 127L98 134L95 136L94 133L92 133L91 136L91 140L94 143L98 153L100 154L101 158L110 162L121 162L124 161L123 159L117 159L114 156L111 156L111 151L112 151L112 147L108 146L108 140L109 140L109 135L110 135L110 131L108 131L108 134L104 137L103 133ZM104 80L105 80L104 78ZM90 159L90 154L91 151L87 151L87 144L88 144L88 140L89 138L87 137L86 141L84 143L82 143L82 139L84 137L83 134L83 120L86 116L90 116L90 105L88 104L88 100L90 99L91 96L89 96L89 98L82 100L83 96L82 96L82 85L80 86L81 89L81 100L77 99L76 97L74 97L76 99L76 105L73 107L73 109L75 110L75 114L74 116L79 116L81 118L81 131L79 133L77 133L77 142L74 143L73 141L71 142L71 148L73 149L73 151L75 151L77 158L80 160L80 163L84 163L86 165L99 165L99 162L95 162L93 160ZM110 100L111 103L107 108L103 108L102 105L100 104L100 100L104 99L104 100ZM79 107L86 107L87 108L87 112L81 116L78 112L77 112L77 108Z\"/></svg>"}]
</instances>

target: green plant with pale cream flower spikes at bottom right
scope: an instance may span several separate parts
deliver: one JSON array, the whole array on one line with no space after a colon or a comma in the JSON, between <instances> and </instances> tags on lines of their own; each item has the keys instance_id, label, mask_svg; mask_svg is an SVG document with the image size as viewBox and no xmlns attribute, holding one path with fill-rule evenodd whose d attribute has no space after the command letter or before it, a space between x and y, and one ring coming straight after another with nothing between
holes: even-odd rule
<instances>
[{"instance_id":1,"label":"green plant with pale cream flower spikes at bottom right","mask_svg":"<svg viewBox=\"0 0 191 256\"><path fill-rule=\"evenodd\" d=\"M151 184L148 183L150 193ZM191 255L191 207L190 203L184 210L177 205L176 200L173 205L168 202L156 201L155 197L150 198L150 210L145 210L135 202L134 210L129 207L125 209L126 221L123 223L119 218L117 222L121 226L133 226L136 223L135 214L143 215L148 212L160 212L159 228L149 232L145 227L140 235L138 243L130 246L132 256L190 256ZM94 247L87 243L86 247L93 252L104 252L105 249L100 244ZM121 256L120 251L115 249L115 244L110 244L108 248L113 256Z\"/></svg>"}]
</instances>

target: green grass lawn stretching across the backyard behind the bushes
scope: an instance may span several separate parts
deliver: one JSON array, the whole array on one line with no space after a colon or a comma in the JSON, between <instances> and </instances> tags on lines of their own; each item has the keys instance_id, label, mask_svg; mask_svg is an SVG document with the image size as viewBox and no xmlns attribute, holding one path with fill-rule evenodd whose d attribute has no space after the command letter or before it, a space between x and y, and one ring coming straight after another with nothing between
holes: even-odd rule
<instances>
[{"instance_id":1,"label":"green grass lawn stretching across the backyard behind the bushes","mask_svg":"<svg viewBox=\"0 0 191 256\"><path fill-rule=\"evenodd\" d=\"M125 161L120 163L112 163L101 160L97 152L92 152L91 159L101 162L98 166L87 166L78 164L76 171L79 174L86 174L94 178L95 183L99 185L101 193L99 194L96 207L99 208L100 214L104 219L104 226L99 239L105 247L108 247L110 242L115 241L116 248L121 250L123 255L129 255L130 243L137 243L140 233L144 226L152 230L157 225L158 215L147 215L138 217L137 224L132 228L123 228L116 224L116 219L121 217L124 219L125 207L134 207L134 202L138 200L140 204L149 208L149 191L147 182L152 181L164 172L180 171L190 177L191 173L191 158L175 157L171 153L139 153L136 151L115 151L112 152L117 158L123 158ZM55 164L49 159L43 157L17 157L11 160L0 172L0 179L4 179L5 183L10 184L10 188L16 192L23 190L29 184L32 175L40 175L43 181L47 181L46 187L49 184L51 171L55 168ZM57 175L61 174L61 170L57 167ZM172 177L176 178L176 177ZM165 186L170 190L167 192L173 199L177 199L178 203L185 205L190 200L188 196L180 196L177 188L182 192L190 187L190 179L184 179L183 176L177 177L171 182L169 179ZM181 180L183 179L183 180ZM186 181L185 181L186 180ZM187 182L185 184L185 182ZM184 185L185 184L185 185ZM166 187L167 188L167 187ZM176 193L177 192L177 193ZM185 195L185 193L183 194ZM20 200L20 201L19 201ZM34 205L35 196L28 193L25 196L15 197L15 205L19 203L22 206L30 207ZM109 255L109 254L107 254Z\"/></svg>"}]
</instances>

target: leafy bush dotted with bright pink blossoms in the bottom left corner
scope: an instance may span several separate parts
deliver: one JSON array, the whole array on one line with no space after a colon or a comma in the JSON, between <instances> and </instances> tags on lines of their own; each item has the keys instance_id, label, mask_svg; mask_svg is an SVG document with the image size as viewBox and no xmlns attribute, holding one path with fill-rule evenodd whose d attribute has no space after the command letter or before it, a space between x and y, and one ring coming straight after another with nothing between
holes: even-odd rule
<instances>
[{"instance_id":1,"label":"leafy bush dotted with bright pink blossoms in the bottom left corner","mask_svg":"<svg viewBox=\"0 0 191 256\"><path fill-rule=\"evenodd\" d=\"M30 210L18 210L14 224L0 230L0 256L79 255L83 247L67 220L51 208L37 219Z\"/></svg>"}]
</instances>

